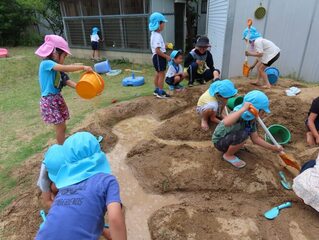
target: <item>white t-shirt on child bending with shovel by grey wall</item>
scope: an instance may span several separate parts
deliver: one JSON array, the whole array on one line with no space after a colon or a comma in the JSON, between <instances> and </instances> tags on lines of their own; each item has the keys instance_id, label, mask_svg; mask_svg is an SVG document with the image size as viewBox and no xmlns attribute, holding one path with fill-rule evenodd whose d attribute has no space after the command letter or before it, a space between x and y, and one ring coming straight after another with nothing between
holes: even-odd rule
<instances>
[{"instance_id":1,"label":"white t-shirt on child bending with shovel by grey wall","mask_svg":"<svg viewBox=\"0 0 319 240\"><path fill-rule=\"evenodd\" d=\"M279 47L277 47L272 41L264 38L257 38L254 42L254 48L256 52L263 53L260 61L265 64L267 64L280 52Z\"/></svg>"}]
</instances>

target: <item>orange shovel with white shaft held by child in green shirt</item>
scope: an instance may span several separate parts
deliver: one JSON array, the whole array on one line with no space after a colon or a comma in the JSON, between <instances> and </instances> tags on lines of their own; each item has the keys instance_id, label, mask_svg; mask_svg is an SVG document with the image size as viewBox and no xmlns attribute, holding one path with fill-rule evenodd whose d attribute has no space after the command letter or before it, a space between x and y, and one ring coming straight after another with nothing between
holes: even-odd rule
<instances>
[{"instance_id":1,"label":"orange shovel with white shaft held by child in green shirt","mask_svg":"<svg viewBox=\"0 0 319 240\"><path fill-rule=\"evenodd\" d=\"M268 135L270 140L273 142L273 144L275 144L275 146L279 147L280 145L278 144L276 139L272 136L272 134L269 132L269 130L266 127L266 125L264 124L263 120L261 120L261 118L259 117L258 110L254 106L251 105L250 108L249 108L249 111L256 117L257 121L262 126L262 128L264 129L264 131L266 132L266 134ZM287 154L284 151L280 152L279 156L284 161L285 164L287 164L288 166L293 167L294 169L298 170L298 172L300 171L299 163L296 160L291 159L290 157L288 157ZM296 175L295 171L293 171L292 173L294 175Z\"/></svg>"}]
</instances>

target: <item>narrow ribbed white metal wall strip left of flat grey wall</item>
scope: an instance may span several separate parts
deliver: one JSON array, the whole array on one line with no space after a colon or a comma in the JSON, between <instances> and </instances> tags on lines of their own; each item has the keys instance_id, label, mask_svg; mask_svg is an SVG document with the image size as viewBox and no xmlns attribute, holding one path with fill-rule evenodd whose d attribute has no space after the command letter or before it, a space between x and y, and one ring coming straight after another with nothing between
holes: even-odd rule
<instances>
[{"instance_id":1,"label":"narrow ribbed white metal wall strip left of flat grey wall","mask_svg":"<svg viewBox=\"0 0 319 240\"><path fill-rule=\"evenodd\" d=\"M207 36L210 39L211 52L215 67L222 68L225 32L228 17L228 0L211 0L207 11Z\"/></svg>"}]
</instances>

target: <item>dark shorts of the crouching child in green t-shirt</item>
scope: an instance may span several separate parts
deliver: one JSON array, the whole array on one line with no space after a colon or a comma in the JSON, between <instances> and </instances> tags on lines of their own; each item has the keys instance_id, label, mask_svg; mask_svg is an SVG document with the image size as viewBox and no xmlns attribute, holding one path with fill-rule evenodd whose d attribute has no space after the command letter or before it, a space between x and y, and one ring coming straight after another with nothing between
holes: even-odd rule
<instances>
[{"instance_id":1,"label":"dark shorts of the crouching child in green t-shirt","mask_svg":"<svg viewBox=\"0 0 319 240\"><path fill-rule=\"evenodd\" d=\"M232 132L215 143L215 147L221 152L227 152L230 145L238 145L246 141L250 133L246 130Z\"/></svg>"}]
</instances>

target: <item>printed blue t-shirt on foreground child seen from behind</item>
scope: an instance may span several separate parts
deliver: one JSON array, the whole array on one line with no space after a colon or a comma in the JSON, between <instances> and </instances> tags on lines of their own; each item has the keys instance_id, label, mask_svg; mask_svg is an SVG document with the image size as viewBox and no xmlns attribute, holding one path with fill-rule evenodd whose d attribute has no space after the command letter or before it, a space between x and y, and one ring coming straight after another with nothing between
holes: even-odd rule
<instances>
[{"instance_id":1,"label":"printed blue t-shirt on foreground child seen from behind","mask_svg":"<svg viewBox=\"0 0 319 240\"><path fill-rule=\"evenodd\" d=\"M36 239L99 239L106 207L113 202L121 203L120 189L110 174L98 173L61 188Z\"/></svg>"}]
</instances>

